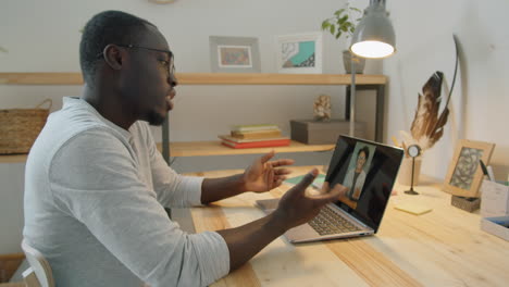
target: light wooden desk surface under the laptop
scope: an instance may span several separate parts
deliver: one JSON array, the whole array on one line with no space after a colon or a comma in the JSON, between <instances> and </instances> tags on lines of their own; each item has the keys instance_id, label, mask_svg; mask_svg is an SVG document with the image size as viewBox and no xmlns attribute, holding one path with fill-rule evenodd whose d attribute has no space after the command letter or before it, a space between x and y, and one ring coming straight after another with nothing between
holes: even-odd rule
<instances>
[{"instance_id":1,"label":"light wooden desk surface under the laptop","mask_svg":"<svg viewBox=\"0 0 509 287\"><path fill-rule=\"evenodd\" d=\"M295 167L293 175L311 167ZM215 177L241 171L194 175ZM244 194L191 209L196 232L235 227L263 216L254 200L281 197L288 186ZM439 185L423 183L408 196L395 186L375 236L291 245L280 237L213 286L507 286L509 242L480 229L480 215L450 205ZM397 202L433 208L422 215L394 209Z\"/></svg>"}]
</instances>

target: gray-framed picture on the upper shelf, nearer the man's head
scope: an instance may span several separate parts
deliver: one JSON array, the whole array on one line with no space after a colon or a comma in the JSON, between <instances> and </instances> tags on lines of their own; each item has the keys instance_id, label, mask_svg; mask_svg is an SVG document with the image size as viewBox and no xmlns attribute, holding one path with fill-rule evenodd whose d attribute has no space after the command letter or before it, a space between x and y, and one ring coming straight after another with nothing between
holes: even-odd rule
<instances>
[{"instance_id":1,"label":"gray-framed picture on the upper shelf, nearer the man's head","mask_svg":"<svg viewBox=\"0 0 509 287\"><path fill-rule=\"evenodd\" d=\"M257 38L210 36L209 42L212 72L260 73Z\"/></svg>"}]
</instances>

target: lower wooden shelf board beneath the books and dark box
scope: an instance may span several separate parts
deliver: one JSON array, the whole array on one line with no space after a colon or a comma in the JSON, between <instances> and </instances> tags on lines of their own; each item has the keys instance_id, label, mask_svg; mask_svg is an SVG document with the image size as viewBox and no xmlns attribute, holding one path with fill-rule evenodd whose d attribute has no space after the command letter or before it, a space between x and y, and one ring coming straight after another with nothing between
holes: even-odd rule
<instances>
[{"instance_id":1,"label":"lower wooden shelf board beneath the books and dark box","mask_svg":"<svg viewBox=\"0 0 509 287\"><path fill-rule=\"evenodd\" d=\"M158 149L161 151L162 144L158 144ZM251 154L265 153L275 150L278 153L283 152L306 152L306 151L327 151L332 150L334 145L305 145L297 141L291 141L288 147L276 148L254 148L254 149L232 149L221 145L221 141L177 141L170 144L170 152L172 157L202 157L202 155L233 155L233 154ZM0 155L0 163L16 163L25 162L27 154Z\"/></svg>"}]
</instances>

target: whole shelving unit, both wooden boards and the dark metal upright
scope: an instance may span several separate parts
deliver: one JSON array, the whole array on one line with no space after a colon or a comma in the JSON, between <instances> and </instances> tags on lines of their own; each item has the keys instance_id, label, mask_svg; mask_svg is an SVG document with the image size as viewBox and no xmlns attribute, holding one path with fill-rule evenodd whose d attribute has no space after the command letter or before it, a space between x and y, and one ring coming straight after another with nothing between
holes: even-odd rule
<instances>
[{"instance_id":1,"label":"whole shelving unit, both wooden boards and the dark metal upright","mask_svg":"<svg viewBox=\"0 0 509 287\"><path fill-rule=\"evenodd\" d=\"M350 85L349 74L233 74L233 73L177 73L179 85ZM387 83L384 75L356 75L357 85L377 86L378 101L383 107L383 89ZM0 73L0 85L57 85L72 86L83 85L82 73ZM378 97L380 96L380 97ZM378 99L380 98L380 99ZM377 111L377 118L382 112ZM382 118L383 120L383 118ZM382 121L378 118L382 123ZM377 127L376 135L382 135L382 125ZM159 145L159 149L161 150ZM307 152L325 151L333 149L334 145L308 146L293 141L289 147L273 148L276 152ZM170 144L172 157L198 157L198 155L228 155L264 153L272 148L257 149L232 149L224 147L220 141L197 141L197 142L173 142ZM25 162L26 155L0 155L0 163Z\"/></svg>"}]
</instances>

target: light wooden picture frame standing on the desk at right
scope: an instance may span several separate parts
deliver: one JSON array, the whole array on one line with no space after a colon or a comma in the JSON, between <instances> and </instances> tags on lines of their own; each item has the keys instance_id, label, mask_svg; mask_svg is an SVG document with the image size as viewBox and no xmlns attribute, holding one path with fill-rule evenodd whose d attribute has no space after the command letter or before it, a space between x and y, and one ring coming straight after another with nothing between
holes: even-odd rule
<instances>
[{"instance_id":1,"label":"light wooden picture frame standing on the desk at right","mask_svg":"<svg viewBox=\"0 0 509 287\"><path fill-rule=\"evenodd\" d=\"M483 171L479 161L489 163L495 144L462 139L449 164L443 189L454 196L479 197Z\"/></svg>"}]
</instances>

